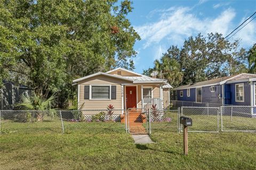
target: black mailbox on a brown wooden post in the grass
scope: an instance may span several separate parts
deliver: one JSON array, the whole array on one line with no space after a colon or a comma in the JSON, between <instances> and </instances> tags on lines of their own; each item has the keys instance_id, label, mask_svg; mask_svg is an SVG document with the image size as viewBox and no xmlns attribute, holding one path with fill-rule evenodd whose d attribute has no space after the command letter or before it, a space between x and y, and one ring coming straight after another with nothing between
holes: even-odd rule
<instances>
[{"instance_id":1,"label":"black mailbox on a brown wooden post in the grass","mask_svg":"<svg viewBox=\"0 0 256 170\"><path fill-rule=\"evenodd\" d=\"M183 125L183 151L188 155L188 126L192 126L192 119L186 116L180 117L180 124Z\"/></svg>"}]
</instances>

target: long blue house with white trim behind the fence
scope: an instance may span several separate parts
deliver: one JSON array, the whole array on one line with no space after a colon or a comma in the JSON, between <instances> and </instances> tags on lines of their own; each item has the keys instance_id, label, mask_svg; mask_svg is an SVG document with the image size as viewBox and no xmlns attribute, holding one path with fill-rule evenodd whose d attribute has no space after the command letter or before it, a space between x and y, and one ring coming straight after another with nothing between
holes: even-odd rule
<instances>
[{"instance_id":1,"label":"long blue house with white trim behind the fence","mask_svg":"<svg viewBox=\"0 0 256 170\"><path fill-rule=\"evenodd\" d=\"M256 106L256 75L238 74L173 89L173 100L233 106Z\"/></svg>"}]
</instances>

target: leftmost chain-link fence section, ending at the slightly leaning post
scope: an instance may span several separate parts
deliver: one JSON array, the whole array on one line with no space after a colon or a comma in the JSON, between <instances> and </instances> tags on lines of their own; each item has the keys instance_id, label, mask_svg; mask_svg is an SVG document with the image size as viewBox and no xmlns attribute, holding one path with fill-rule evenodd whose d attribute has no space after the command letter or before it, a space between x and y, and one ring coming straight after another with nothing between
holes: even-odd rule
<instances>
[{"instance_id":1,"label":"leftmost chain-link fence section, ending at the slightly leaning post","mask_svg":"<svg viewBox=\"0 0 256 170\"><path fill-rule=\"evenodd\" d=\"M61 133L59 111L5 110L1 112L1 134Z\"/></svg>"}]
</instances>

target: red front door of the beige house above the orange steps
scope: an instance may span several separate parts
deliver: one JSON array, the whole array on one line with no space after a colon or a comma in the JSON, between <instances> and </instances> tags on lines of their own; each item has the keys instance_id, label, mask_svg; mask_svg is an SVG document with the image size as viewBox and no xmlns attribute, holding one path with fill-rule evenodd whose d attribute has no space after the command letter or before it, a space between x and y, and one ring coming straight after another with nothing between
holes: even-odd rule
<instances>
[{"instance_id":1,"label":"red front door of the beige house above the orange steps","mask_svg":"<svg viewBox=\"0 0 256 170\"><path fill-rule=\"evenodd\" d=\"M136 108L136 86L126 86L126 108Z\"/></svg>"}]
</instances>

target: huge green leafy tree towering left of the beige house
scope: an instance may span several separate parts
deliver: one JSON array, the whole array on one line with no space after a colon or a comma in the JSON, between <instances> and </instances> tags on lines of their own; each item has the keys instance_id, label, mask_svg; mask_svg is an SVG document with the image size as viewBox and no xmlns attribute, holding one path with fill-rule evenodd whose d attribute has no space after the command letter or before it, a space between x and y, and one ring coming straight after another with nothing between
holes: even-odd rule
<instances>
[{"instance_id":1,"label":"huge green leafy tree towering left of the beige house","mask_svg":"<svg viewBox=\"0 0 256 170\"><path fill-rule=\"evenodd\" d=\"M139 35L131 2L0 0L0 77L25 79L38 95L73 98L72 80L110 68L133 69Z\"/></svg>"}]
</instances>

